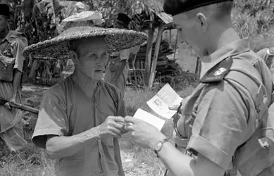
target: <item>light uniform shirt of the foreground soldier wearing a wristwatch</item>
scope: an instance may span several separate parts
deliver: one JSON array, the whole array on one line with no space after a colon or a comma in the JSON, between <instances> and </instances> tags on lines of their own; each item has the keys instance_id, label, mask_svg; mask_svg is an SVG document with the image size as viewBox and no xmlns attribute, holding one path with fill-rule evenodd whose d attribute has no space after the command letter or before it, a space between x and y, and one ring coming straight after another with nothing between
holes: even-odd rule
<instances>
[{"instance_id":1,"label":"light uniform shirt of the foreground soldier wearing a wristwatch","mask_svg":"<svg viewBox=\"0 0 274 176\"><path fill-rule=\"evenodd\" d=\"M247 77L263 82L269 106L273 82L266 63L242 39L218 49L201 64L201 83L175 127L178 149L193 157L200 153L224 170L234 166L242 176L274 175L273 147L263 149L256 139L261 123L254 102L259 102L256 92L261 89ZM259 72L253 64L259 65Z\"/></svg>"}]
</instances>

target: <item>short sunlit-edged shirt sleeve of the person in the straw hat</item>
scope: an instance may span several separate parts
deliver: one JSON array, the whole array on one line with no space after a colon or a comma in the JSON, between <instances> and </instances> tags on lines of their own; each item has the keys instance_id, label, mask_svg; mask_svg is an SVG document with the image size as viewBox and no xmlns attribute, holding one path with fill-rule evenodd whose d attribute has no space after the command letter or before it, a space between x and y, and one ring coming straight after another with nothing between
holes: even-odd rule
<instances>
[{"instance_id":1,"label":"short sunlit-edged shirt sleeve of the person in the straw hat","mask_svg":"<svg viewBox=\"0 0 274 176\"><path fill-rule=\"evenodd\" d=\"M32 136L32 142L46 148L46 136L66 136L69 131L66 103L58 98L58 94L46 92L42 99L38 120Z\"/></svg>"}]
</instances>

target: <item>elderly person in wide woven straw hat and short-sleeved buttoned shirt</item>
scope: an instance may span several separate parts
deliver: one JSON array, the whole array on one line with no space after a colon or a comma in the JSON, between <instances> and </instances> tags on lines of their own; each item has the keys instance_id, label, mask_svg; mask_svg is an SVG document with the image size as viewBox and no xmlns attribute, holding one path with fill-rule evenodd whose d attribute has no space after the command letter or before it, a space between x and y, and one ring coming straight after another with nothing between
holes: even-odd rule
<instances>
[{"instance_id":1,"label":"elderly person in wide woven straw hat and short-sleeved buttoned shirt","mask_svg":"<svg viewBox=\"0 0 274 176\"><path fill-rule=\"evenodd\" d=\"M70 16L58 37L25 49L31 58L75 63L73 75L44 94L32 137L56 159L56 175L124 175L118 138L125 133L125 103L118 88L101 78L107 52L141 44L147 35L94 27L100 16L93 11Z\"/></svg>"}]
</instances>

